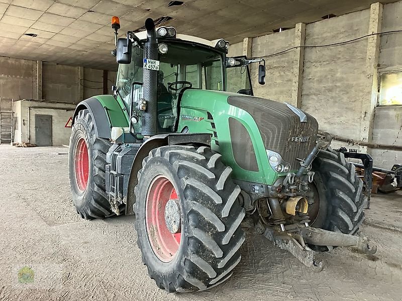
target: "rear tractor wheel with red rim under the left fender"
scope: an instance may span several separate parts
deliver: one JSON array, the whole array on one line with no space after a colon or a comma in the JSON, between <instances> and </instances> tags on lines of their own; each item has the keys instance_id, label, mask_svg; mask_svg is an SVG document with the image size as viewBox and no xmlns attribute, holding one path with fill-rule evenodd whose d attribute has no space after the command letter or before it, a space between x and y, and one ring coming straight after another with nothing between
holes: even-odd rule
<instances>
[{"instance_id":1,"label":"rear tractor wheel with red rim under the left fender","mask_svg":"<svg viewBox=\"0 0 402 301\"><path fill-rule=\"evenodd\" d=\"M107 139L96 136L89 111L79 111L71 130L68 174L74 206L84 219L114 215L105 185L106 153L110 146Z\"/></svg>"}]
</instances>

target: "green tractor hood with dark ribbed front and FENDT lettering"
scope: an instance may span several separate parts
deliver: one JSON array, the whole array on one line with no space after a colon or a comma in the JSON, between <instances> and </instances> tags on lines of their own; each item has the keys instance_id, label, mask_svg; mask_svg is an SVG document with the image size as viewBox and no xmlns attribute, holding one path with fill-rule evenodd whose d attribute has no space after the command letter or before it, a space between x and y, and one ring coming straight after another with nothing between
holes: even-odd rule
<instances>
[{"instance_id":1,"label":"green tractor hood with dark ribbed front and FENDT lettering","mask_svg":"<svg viewBox=\"0 0 402 301\"><path fill-rule=\"evenodd\" d=\"M266 167L275 167L268 156L278 154L279 162L297 170L316 143L318 122L313 116L269 99L187 89L179 112L179 131L187 127L190 132L211 132L214 150L233 154L233 162L227 164L239 167L234 168L239 178L242 171L263 172L268 184L273 178Z\"/></svg>"}]
</instances>

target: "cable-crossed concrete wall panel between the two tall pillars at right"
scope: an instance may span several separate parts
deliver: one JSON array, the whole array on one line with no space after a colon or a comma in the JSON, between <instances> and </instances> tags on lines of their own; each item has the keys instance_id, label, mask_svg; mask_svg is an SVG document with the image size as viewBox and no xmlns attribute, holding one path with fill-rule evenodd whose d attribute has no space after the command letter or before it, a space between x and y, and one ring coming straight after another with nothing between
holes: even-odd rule
<instances>
[{"instance_id":1,"label":"cable-crossed concrete wall panel between the two tall pillars at right","mask_svg":"<svg viewBox=\"0 0 402 301\"><path fill-rule=\"evenodd\" d=\"M306 45L325 45L367 34L370 11L360 11L306 26ZM320 129L360 139L360 115L367 85L367 39L336 47L305 50L302 109Z\"/></svg>"}]
</instances>

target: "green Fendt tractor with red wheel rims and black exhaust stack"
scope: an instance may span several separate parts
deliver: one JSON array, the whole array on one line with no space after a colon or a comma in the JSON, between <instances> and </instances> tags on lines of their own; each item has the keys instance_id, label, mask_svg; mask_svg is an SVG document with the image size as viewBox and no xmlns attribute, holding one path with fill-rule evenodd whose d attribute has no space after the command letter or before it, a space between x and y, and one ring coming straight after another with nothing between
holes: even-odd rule
<instances>
[{"instance_id":1,"label":"green Fendt tractor with red wheel rims and black exhaust stack","mask_svg":"<svg viewBox=\"0 0 402 301\"><path fill-rule=\"evenodd\" d=\"M155 28L118 38L113 95L81 101L69 148L72 199L83 219L135 214L148 273L168 292L227 280L255 230L315 271L316 252L348 246L366 206L354 165L310 114L253 96L249 64L224 39ZM257 70L256 69L256 70ZM134 218L133 218L134 220ZM267 258L267 260L270 260Z\"/></svg>"}]
</instances>

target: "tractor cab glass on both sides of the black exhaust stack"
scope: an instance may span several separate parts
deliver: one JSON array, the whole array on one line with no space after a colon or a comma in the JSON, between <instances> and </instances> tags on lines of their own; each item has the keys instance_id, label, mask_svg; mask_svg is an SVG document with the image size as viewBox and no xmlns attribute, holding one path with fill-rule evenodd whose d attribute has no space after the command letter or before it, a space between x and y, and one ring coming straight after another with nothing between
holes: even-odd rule
<instances>
[{"instance_id":1,"label":"tractor cab glass on both sides of the black exhaust stack","mask_svg":"<svg viewBox=\"0 0 402 301\"><path fill-rule=\"evenodd\" d=\"M167 53L159 54L157 93L159 132L173 131L177 117L177 98L183 88L225 90L221 53L191 43L171 41L166 44ZM143 50L140 47L133 47L131 64L119 65L117 76L118 95L127 107L130 107L132 100L136 102L142 96L142 74Z\"/></svg>"}]
</instances>

